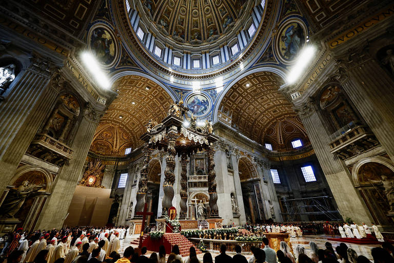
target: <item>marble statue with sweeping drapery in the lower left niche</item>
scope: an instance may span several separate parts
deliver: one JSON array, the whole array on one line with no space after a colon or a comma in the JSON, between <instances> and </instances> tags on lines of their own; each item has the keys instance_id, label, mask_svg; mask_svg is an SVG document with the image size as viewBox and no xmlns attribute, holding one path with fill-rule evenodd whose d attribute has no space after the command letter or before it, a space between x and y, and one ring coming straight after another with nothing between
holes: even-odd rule
<instances>
[{"instance_id":1,"label":"marble statue with sweeping drapery in the lower left niche","mask_svg":"<svg viewBox=\"0 0 394 263\"><path fill-rule=\"evenodd\" d=\"M22 208L26 198L37 195L37 192L44 186L45 184L36 185L29 181L23 181L17 189L10 190L0 208L3 214L2 217L15 218L15 214Z\"/></svg>"}]
</instances>

